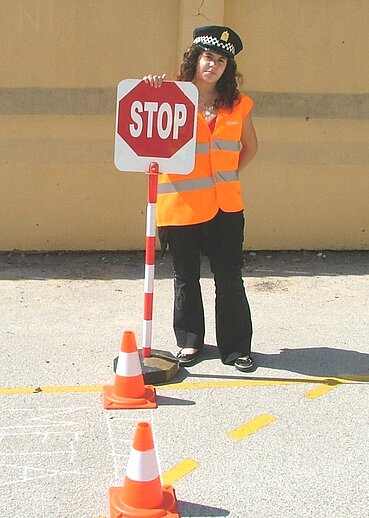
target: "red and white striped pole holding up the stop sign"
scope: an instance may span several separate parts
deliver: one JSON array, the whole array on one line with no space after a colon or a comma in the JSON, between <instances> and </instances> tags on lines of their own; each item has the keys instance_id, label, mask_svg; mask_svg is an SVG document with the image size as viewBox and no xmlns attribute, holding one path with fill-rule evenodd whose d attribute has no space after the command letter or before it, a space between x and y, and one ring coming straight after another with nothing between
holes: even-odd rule
<instances>
[{"instance_id":1,"label":"red and white striped pole holding up the stop sign","mask_svg":"<svg viewBox=\"0 0 369 518\"><path fill-rule=\"evenodd\" d=\"M156 200L158 195L159 164L151 162L148 171L146 210L145 298L142 335L142 357L151 356L152 308L154 299Z\"/></svg>"}]
</instances>

